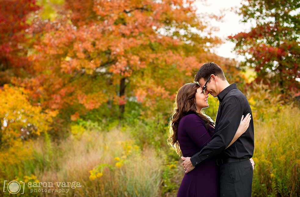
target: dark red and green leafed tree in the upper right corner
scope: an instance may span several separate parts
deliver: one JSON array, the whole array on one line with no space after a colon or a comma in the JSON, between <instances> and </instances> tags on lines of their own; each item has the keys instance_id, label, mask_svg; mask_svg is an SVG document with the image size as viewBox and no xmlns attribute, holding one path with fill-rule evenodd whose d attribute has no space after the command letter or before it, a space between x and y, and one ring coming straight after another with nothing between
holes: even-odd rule
<instances>
[{"instance_id":1,"label":"dark red and green leafed tree in the upper right corner","mask_svg":"<svg viewBox=\"0 0 300 197\"><path fill-rule=\"evenodd\" d=\"M266 79L282 92L300 88L299 7L299 1L243 1L242 22L254 21L256 27L229 37L234 50L246 57L243 64L255 68L256 80Z\"/></svg>"}]
</instances>

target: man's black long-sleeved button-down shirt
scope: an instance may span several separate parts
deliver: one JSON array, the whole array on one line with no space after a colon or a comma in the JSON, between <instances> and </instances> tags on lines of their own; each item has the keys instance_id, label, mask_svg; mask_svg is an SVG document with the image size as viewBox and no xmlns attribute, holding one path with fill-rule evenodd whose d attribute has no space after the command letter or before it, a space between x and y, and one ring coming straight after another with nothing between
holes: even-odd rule
<instances>
[{"instance_id":1,"label":"man's black long-sleeved button-down shirt","mask_svg":"<svg viewBox=\"0 0 300 197\"><path fill-rule=\"evenodd\" d=\"M217 158L251 158L254 151L253 116L247 98L231 84L218 94L220 102L216 118L215 134L210 142L196 155L191 157L193 166L217 156ZM232 141L240 125L242 115L250 113L251 121L248 129L231 146L225 149Z\"/></svg>"}]
</instances>

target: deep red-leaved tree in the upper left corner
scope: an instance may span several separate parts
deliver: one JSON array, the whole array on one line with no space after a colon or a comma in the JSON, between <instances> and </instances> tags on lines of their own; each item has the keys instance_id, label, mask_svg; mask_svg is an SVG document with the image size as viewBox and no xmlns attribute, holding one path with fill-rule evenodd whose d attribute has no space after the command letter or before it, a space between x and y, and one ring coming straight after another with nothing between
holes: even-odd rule
<instances>
[{"instance_id":1,"label":"deep red-leaved tree in the upper left corner","mask_svg":"<svg viewBox=\"0 0 300 197\"><path fill-rule=\"evenodd\" d=\"M40 9L35 0L0 1L0 86L11 77L30 73L27 49L30 36L29 14Z\"/></svg>"}]
</instances>

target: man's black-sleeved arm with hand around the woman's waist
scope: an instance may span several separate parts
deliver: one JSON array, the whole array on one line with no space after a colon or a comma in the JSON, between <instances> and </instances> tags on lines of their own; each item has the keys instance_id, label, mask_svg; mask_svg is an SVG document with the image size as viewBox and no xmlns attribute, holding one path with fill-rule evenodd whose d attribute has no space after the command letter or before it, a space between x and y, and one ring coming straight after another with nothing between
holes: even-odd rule
<instances>
[{"instance_id":1,"label":"man's black-sleeved arm with hand around the woman's waist","mask_svg":"<svg viewBox=\"0 0 300 197\"><path fill-rule=\"evenodd\" d=\"M239 127L240 118L243 115L243 108L240 100L236 97L229 97L222 101L222 113L216 133L211 141L197 154L190 159L185 159L182 165L185 166L185 173L192 170L192 166L197 166L201 162L218 155L225 150L231 143L237 128Z\"/></svg>"}]
</instances>

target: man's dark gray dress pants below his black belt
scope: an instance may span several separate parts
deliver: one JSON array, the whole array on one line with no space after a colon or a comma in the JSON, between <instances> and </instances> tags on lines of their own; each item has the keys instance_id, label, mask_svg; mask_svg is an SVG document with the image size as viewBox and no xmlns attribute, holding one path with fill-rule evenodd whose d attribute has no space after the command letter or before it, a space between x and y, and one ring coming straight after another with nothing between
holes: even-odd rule
<instances>
[{"instance_id":1,"label":"man's dark gray dress pants below his black belt","mask_svg":"<svg viewBox=\"0 0 300 197\"><path fill-rule=\"evenodd\" d=\"M220 165L220 196L251 197L252 179L250 160Z\"/></svg>"}]
</instances>

